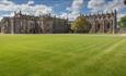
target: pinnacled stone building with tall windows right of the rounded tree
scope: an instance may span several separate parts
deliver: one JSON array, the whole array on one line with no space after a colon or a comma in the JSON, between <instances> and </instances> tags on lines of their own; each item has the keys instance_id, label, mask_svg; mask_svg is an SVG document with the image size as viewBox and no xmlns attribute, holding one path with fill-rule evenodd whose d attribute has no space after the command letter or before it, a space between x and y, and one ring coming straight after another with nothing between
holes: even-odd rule
<instances>
[{"instance_id":1,"label":"pinnacled stone building with tall windows right of the rounded tree","mask_svg":"<svg viewBox=\"0 0 126 76\"><path fill-rule=\"evenodd\" d=\"M111 13L98 13L81 15L85 17L89 22L87 27L88 33L105 33L105 34L115 34L117 33L117 13L116 10Z\"/></svg>"}]
</instances>

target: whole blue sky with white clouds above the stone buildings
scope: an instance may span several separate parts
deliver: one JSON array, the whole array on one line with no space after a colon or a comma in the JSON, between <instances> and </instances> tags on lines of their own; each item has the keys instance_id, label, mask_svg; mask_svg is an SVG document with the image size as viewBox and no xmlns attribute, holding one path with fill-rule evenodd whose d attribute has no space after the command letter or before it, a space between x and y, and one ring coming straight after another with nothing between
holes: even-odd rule
<instances>
[{"instance_id":1,"label":"whole blue sky with white clouds above the stone buildings","mask_svg":"<svg viewBox=\"0 0 126 76\"><path fill-rule=\"evenodd\" d=\"M126 15L124 0L0 0L0 18L13 16L14 11L28 15L51 14L75 20L80 14L117 10L118 20Z\"/></svg>"}]
</instances>

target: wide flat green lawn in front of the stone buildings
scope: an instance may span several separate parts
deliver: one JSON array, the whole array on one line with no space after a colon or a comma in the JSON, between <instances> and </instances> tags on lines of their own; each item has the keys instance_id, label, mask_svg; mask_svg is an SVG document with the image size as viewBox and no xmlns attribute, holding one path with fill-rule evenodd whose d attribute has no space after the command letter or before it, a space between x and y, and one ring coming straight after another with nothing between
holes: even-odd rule
<instances>
[{"instance_id":1,"label":"wide flat green lawn in front of the stone buildings","mask_svg":"<svg viewBox=\"0 0 126 76\"><path fill-rule=\"evenodd\" d=\"M0 35L0 76L126 76L126 37Z\"/></svg>"}]
</instances>

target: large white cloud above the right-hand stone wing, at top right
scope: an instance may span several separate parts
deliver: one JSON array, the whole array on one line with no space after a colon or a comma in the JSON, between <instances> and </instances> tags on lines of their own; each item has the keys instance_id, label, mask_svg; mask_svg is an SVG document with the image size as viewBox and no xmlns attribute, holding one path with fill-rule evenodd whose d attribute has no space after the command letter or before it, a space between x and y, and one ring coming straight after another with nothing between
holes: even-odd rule
<instances>
[{"instance_id":1,"label":"large white cloud above the right-hand stone wing, at top right","mask_svg":"<svg viewBox=\"0 0 126 76\"><path fill-rule=\"evenodd\" d=\"M126 5L124 4L124 0L112 0L108 2L105 2L105 0L90 0L88 2L88 8L91 9L91 12L117 10L117 18L119 20L123 14L122 10L126 9Z\"/></svg>"}]
</instances>

